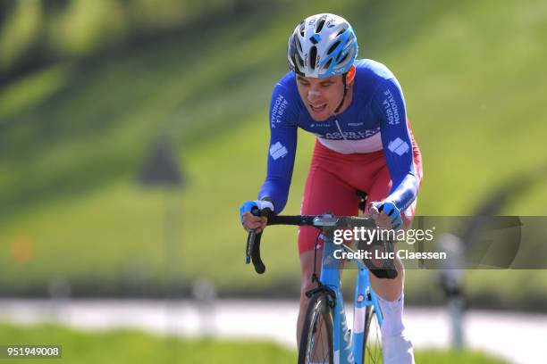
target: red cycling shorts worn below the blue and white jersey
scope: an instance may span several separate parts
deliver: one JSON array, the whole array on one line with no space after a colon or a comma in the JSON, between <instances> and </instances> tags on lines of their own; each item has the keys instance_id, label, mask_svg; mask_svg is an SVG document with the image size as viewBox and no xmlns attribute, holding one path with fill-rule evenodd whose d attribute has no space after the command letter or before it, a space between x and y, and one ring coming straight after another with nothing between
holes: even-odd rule
<instances>
[{"instance_id":1,"label":"red cycling shorts worn below the blue and white jersey","mask_svg":"<svg viewBox=\"0 0 547 364\"><path fill-rule=\"evenodd\" d=\"M414 167L421 186L422 156L414 136L412 134L410 136ZM364 191L368 195L367 208L368 203L382 201L389 194L391 178L383 150L374 153L341 154L316 141L300 213L357 216L359 203L357 190ZM416 207L417 200L407 210L401 212L405 226L408 226L414 217ZM299 254L314 250L318 231L316 227L299 228Z\"/></svg>"}]
</instances>

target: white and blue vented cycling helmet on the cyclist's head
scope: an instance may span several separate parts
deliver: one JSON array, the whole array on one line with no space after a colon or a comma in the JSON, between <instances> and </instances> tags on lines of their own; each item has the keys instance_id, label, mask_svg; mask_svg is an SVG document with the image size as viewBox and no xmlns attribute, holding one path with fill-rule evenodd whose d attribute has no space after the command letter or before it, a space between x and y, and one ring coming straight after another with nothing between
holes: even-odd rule
<instances>
[{"instance_id":1,"label":"white and blue vented cycling helmet on the cyclist's head","mask_svg":"<svg viewBox=\"0 0 547 364\"><path fill-rule=\"evenodd\" d=\"M357 37L349 22L329 13L301 21L287 47L290 70L320 79L348 72L357 54Z\"/></svg>"}]
</instances>

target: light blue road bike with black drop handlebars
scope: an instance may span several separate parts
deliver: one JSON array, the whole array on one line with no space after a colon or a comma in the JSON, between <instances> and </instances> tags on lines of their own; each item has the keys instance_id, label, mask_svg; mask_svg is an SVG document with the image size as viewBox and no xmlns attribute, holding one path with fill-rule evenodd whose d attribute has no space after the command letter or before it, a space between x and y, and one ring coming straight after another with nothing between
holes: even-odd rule
<instances>
[{"instance_id":1,"label":"light blue road bike with black drop handlebars","mask_svg":"<svg viewBox=\"0 0 547 364\"><path fill-rule=\"evenodd\" d=\"M353 330L348 327L341 290L341 261L335 256L341 252L357 251L347 244L334 244L333 232L339 228L376 228L374 220L348 216L297 215L274 216L267 209L252 211L255 215L268 217L267 225L296 225L317 227L323 236L324 248L321 276L316 277L316 288L306 293L309 298L304 328L300 337L299 363L382 363L381 330L383 314L376 294L370 285L369 269L378 269L370 261L349 259L357 265L358 275L355 284L353 303ZM260 256L260 239L250 229L247 240L246 263L252 261L258 274L265 272L265 264ZM392 242L377 242L384 250L392 251ZM335 252L341 250L341 252ZM317 252L317 250L316 250ZM335 255L336 254L336 255ZM390 271L396 277L397 271L392 261L383 262L380 269Z\"/></svg>"}]
</instances>

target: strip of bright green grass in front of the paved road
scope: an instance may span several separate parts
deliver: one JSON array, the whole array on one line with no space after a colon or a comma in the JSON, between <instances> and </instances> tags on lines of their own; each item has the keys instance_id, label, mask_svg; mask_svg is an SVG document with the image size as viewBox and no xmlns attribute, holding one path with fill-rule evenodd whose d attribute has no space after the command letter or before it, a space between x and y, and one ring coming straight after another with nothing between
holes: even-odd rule
<instances>
[{"instance_id":1,"label":"strip of bright green grass in front of the paved road","mask_svg":"<svg viewBox=\"0 0 547 364\"><path fill-rule=\"evenodd\" d=\"M55 326L13 327L0 324L6 344L62 345L59 362L87 363L294 363L297 352L261 341L219 341L162 338L136 331L90 334ZM480 352L417 351L419 363L503 364ZM9 360L13 361L13 360ZM34 363L21 360L18 363Z\"/></svg>"}]
</instances>

